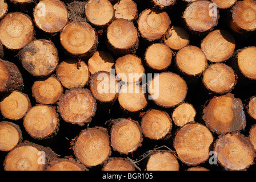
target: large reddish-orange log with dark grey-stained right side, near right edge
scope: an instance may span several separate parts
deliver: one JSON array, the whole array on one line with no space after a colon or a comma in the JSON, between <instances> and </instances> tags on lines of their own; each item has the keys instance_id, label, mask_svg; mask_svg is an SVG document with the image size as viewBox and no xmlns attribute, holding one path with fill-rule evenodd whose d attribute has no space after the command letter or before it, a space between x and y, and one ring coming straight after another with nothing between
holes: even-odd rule
<instances>
[{"instance_id":1,"label":"large reddish-orange log with dark grey-stained right side, near right edge","mask_svg":"<svg viewBox=\"0 0 256 182\"><path fill-rule=\"evenodd\" d=\"M215 96L204 106L203 120L217 134L242 130L246 125L242 101L231 93Z\"/></svg>"}]
</instances>

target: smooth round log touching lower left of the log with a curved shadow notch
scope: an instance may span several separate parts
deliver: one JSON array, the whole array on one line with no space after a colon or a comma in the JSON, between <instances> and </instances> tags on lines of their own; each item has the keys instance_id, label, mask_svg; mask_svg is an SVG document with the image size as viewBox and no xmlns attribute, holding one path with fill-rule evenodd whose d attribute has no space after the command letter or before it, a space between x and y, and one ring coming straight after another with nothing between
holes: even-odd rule
<instances>
[{"instance_id":1,"label":"smooth round log touching lower left of the log with a curved shadow notch","mask_svg":"<svg viewBox=\"0 0 256 182\"><path fill-rule=\"evenodd\" d=\"M186 46L177 52L175 65L183 75L199 77L208 67L205 53L197 46Z\"/></svg>"}]
</instances>

